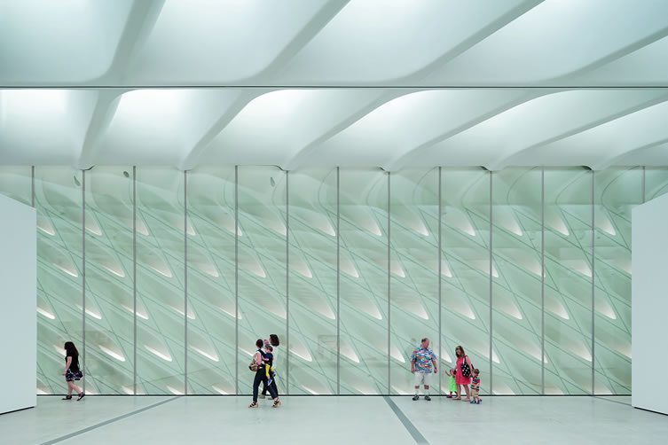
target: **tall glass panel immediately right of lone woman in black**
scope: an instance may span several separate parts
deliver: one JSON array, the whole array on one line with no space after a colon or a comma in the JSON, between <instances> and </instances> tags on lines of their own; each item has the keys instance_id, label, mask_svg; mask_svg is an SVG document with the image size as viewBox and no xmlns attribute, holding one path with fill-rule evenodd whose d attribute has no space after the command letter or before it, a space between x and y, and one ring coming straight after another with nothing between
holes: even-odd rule
<instances>
[{"instance_id":1,"label":"tall glass panel immediately right of lone woman in black","mask_svg":"<svg viewBox=\"0 0 668 445\"><path fill-rule=\"evenodd\" d=\"M86 172L86 382L134 394L131 167Z\"/></svg>"}]
</instances>

